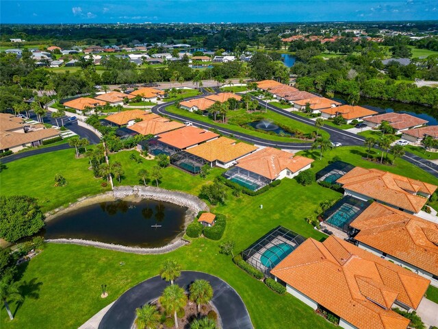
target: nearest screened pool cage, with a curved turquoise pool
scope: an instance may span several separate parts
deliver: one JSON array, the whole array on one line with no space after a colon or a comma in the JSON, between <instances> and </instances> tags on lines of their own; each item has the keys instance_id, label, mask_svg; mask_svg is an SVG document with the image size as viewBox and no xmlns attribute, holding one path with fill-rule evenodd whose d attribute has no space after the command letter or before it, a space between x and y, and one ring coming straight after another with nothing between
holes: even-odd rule
<instances>
[{"instance_id":1,"label":"nearest screened pool cage, with a curved turquoise pool","mask_svg":"<svg viewBox=\"0 0 438 329\"><path fill-rule=\"evenodd\" d=\"M278 226L246 248L242 258L265 276L271 277L270 270L304 241L303 236Z\"/></svg>"}]
</instances>

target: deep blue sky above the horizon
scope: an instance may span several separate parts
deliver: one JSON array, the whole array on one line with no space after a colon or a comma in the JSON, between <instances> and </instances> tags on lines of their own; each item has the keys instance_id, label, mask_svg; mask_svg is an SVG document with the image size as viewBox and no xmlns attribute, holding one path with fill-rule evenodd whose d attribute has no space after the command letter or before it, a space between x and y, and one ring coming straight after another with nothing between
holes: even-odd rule
<instances>
[{"instance_id":1,"label":"deep blue sky above the horizon","mask_svg":"<svg viewBox=\"0 0 438 329\"><path fill-rule=\"evenodd\" d=\"M240 23L438 19L438 0L0 0L1 23Z\"/></svg>"}]
</instances>

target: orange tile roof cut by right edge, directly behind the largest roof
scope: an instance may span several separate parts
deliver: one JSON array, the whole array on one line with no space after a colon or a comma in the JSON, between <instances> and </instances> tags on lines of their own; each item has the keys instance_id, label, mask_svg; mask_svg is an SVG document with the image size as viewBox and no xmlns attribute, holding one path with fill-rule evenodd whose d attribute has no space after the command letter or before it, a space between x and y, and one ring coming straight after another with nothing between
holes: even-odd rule
<instances>
[{"instance_id":1,"label":"orange tile roof cut by right edge, directly behind the largest roof","mask_svg":"<svg viewBox=\"0 0 438 329\"><path fill-rule=\"evenodd\" d=\"M355 239L438 276L438 225L374 202L352 223Z\"/></svg>"}]
</instances>

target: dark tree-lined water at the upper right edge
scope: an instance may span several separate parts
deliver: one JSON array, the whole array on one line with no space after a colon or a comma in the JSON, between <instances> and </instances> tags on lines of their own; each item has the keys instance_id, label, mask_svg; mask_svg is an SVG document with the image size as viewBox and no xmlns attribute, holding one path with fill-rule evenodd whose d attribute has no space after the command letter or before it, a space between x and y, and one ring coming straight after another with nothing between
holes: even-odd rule
<instances>
[{"instance_id":1,"label":"dark tree-lined water at the upper right edge","mask_svg":"<svg viewBox=\"0 0 438 329\"><path fill-rule=\"evenodd\" d=\"M346 103L342 98L344 95L336 95L335 100ZM357 105L370 108L376 112L398 112L411 114L413 117L429 121L428 125L438 125L438 112L436 109L427 106L401 103L400 101L385 101L383 99L361 97Z\"/></svg>"}]
</instances>

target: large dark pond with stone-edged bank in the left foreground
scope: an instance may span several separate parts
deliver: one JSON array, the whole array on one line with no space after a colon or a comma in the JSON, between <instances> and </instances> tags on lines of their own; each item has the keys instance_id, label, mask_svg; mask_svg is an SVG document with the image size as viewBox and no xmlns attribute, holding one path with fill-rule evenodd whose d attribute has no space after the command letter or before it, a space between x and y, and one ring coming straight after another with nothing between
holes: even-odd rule
<instances>
[{"instance_id":1,"label":"large dark pond with stone-edged bank in the left foreground","mask_svg":"<svg viewBox=\"0 0 438 329\"><path fill-rule=\"evenodd\" d=\"M162 247L184 230L187 208L143 199L72 210L47 221L45 239L83 239L128 247Z\"/></svg>"}]
</instances>

